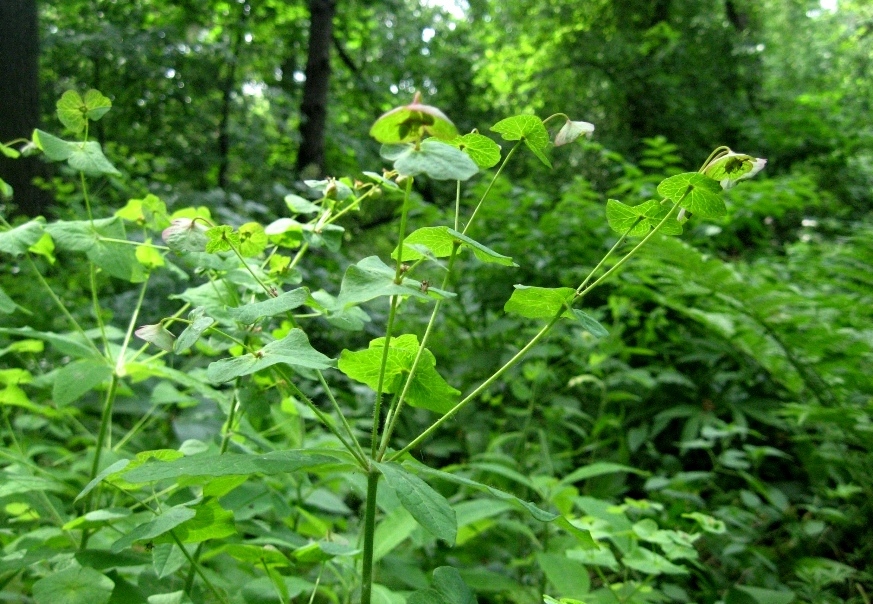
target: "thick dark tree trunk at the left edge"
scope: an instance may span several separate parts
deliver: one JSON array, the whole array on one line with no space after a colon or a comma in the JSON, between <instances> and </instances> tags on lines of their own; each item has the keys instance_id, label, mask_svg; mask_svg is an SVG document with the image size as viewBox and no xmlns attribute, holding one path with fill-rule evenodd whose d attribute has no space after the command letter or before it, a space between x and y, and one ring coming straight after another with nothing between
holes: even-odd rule
<instances>
[{"instance_id":1,"label":"thick dark tree trunk at the left edge","mask_svg":"<svg viewBox=\"0 0 873 604\"><path fill-rule=\"evenodd\" d=\"M0 0L0 141L30 139L39 123L39 31L36 0ZM16 145L18 146L18 145ZM33 185L45 176L36 157L0 155L0 177L13 190L18 212L44 214L51 196Z\"/></svg>"}]
</instances>

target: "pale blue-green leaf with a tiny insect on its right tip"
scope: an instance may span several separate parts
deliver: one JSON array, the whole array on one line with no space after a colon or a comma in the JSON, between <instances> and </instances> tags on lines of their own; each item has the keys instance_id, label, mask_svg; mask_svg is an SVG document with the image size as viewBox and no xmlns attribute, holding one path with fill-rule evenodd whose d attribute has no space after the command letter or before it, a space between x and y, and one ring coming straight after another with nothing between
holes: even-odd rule
<instances>
[{"instance_id":1,"label":"pale blue-green leaf with a tiny insect on its right tip","mask_svg":"<svg viewBox=\"0 0 873 604\"><path fill-rule=\"evenodd\" d=\"M435 287L422 291L420 281L401 277L394 282L395 270L382 262L378 256L368 256L346 269L337 302L343 306L361 304L380 296L412 296L422 300L442 300L454 296L451 292Z\"/></svg>"}]
</instances>

